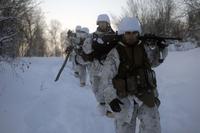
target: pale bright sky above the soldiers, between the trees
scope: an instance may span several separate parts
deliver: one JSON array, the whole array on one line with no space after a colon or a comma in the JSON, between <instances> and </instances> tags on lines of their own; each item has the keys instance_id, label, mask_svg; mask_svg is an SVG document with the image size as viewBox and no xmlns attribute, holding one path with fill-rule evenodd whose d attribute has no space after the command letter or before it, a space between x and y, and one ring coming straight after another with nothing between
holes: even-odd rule
<instances>
[{"instance_id":1,"label":"pale bright sky above the soldiers, between the trees","mask_svg":"<svg viewBox=\"0 0 200 133\"><path fill-rule=\"evenodd\" d=\"M120 15L126 0L42 0L41 7L47 22L57 19L62 29L74 29L76 25L86 26L93 32L99 14ZM110 16L111 18L111 16Z\"/></svg>"}]
</instances>

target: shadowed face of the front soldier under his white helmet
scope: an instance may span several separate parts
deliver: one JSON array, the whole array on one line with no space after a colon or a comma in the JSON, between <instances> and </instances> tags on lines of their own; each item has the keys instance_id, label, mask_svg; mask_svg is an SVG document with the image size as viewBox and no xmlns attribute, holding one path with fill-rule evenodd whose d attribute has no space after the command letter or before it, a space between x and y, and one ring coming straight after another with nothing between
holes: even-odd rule
<instances>
[{"instance_id":1,"label":"shadowed face of the front soldier under his white helmet","mask_svg":"<svg viewBox=\"0 0 200 133\"><path fill-rule=\"evenodd\" d=\"M124 39L128 45L134 45L138 42L138 32L125 32Z\"/></svg>"}]
</instances>

